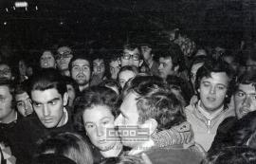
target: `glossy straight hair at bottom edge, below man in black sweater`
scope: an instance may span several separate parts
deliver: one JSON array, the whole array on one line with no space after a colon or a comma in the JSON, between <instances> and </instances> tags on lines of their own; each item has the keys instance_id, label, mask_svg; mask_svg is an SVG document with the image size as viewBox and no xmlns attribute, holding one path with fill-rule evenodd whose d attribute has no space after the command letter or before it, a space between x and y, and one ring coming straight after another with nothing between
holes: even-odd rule
<instances>
[{"instance_id":1,"label":"glossy straight hair at bottom edge, below man in black sweater","mask_svg":"<svg viewBox=\"0 0 256 164\"><path fill-rule=\"evenodd\" d=\"M91 150L86 140L80 135L69 132L52 134L41 140L38 155L42 154L64 155L77 164L93 163Z\"/></svg>"}]
</instances>

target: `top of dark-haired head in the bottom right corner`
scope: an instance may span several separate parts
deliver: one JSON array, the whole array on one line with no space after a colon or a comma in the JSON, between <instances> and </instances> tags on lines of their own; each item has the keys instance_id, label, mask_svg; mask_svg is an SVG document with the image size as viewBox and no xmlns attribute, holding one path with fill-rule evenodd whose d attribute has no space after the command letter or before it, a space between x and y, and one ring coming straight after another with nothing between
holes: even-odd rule
<instances>
[{"instance_id":1,"label":"top of dark-haired head in the bottom right corner","mask_svg":"<svg viewBox=\"0 0 256 164\"><path fill-rule=\"evenodd\" d=\"M201 164L253 164L255 162L255 149L231 146L209 154Z\"/></svg>"}]
</instances>

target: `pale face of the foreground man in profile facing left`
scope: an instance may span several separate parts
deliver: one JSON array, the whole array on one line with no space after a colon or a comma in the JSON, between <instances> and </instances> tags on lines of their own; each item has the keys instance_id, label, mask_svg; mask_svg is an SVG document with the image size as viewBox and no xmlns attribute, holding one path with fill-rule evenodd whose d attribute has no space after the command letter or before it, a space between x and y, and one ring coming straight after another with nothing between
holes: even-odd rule
<instances>
[{"instance_id":1,"label":"pale face of the foreground man in profile facing left","mask_svg":"<svg viewBox=\"0 0 256 164\"><path fill-rule=\"evenodd\" d=\"M137 95L130 92L122 101L120 106L119 117L116 118L115 124L119 127L134 126L133 131L137 131L138 123L138 112L137 112ZM136 147L136 141L129 141L129 136L120 135L122 144L129 147Z\"/></svg>"}]
</instances>

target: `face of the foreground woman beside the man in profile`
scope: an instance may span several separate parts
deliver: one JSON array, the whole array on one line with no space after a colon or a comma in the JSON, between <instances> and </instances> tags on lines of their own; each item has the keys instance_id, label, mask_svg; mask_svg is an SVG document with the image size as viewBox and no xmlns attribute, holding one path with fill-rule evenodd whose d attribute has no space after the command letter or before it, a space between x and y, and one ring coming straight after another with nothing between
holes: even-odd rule
<instances>
[{"instance_id":1,"label":"face of the foreground woman beside the man in profile","mask_svg":"<svg viewBox=\"0 0 256 164\"><path fill-rule=\"evenodd\" d=\"M102 152L113 149L117 141L116 137L112 141L106 140L107 135L109 135L107 133L108 128L114 131L112 134L117 134L114 125L114 116L108 107L96 105L90 109L86 109L82 115L82 119L87 136L97 148Z\"/></svg>"}]
</instances>

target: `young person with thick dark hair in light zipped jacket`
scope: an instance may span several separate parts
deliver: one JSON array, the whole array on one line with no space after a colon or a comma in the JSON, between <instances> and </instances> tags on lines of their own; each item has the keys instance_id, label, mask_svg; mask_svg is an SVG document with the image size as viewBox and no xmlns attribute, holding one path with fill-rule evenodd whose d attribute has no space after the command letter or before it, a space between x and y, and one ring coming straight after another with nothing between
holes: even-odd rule
<instances>
[{"instance_id":1,"label":"young person with thick dark hair in light zipped jacket","mask_svg":"<svg viewBox=\"0 0 256 164\"><path fill-rule=\"evenodd\" d=\"M185 114L192 124L194 140L205 151L210 149L219 124L234 115L229 109L232 69L223 61L208 61L196 73L195 89L198 102L186 107Z\"/></svg>"}]
</instances>

